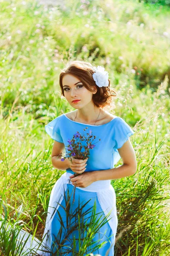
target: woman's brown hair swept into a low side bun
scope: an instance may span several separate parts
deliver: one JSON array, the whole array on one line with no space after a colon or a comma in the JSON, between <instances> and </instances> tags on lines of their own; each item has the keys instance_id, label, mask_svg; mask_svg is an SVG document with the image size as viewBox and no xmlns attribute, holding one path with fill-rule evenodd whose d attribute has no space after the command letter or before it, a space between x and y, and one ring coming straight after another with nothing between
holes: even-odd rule
<instances>
[{"instance_id":1,"label":"woman's brown hair swept into a low side bun","mask_svg":"<svg viewBox=\"0 0 170 256\"><path fill-rule=\"evenodd\" d=\"M94 79L93 79L93 73L94 68L89 62L85 61L71 61L71 63L68 63L65 68L62 69L60 75L59 75L59 86L62 91L62 96L64 96L64 90L62 86L62 78L66 74L71 74L82 82L82 84L87 88L89 91L93 92L92 86L95 86L97 88L97 92L93 94L92 100L94 104L97 107L100 108L115 108L115 105L112 102L112 96L116 96L117 93L113 88L111 88L110 84L111 81L109 81L109 85L107 87L99 87L96 85ZM112 94L114 93L114 95Z\"/></svg>"}]
</instances>

